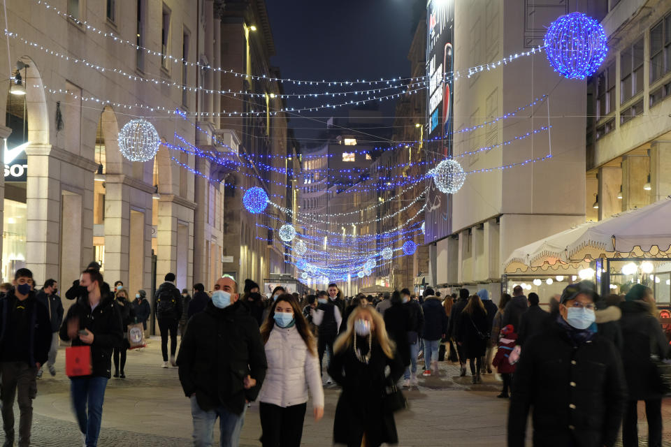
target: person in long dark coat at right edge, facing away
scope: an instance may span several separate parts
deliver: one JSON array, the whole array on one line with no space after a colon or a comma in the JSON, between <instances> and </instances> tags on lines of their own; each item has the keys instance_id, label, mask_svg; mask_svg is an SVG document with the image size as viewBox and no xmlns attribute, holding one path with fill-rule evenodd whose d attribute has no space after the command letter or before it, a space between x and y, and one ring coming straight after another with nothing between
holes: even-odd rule
<instances>
[{"instance_id":1,"label":"person in long dark coat at right edge, facing away","mask_svg":"<svg viewBox=\"0 0 671 447\"><path fill-rule=\"evenodd\" d=\"M668 358L669 345L657 318L651 315L654 300L652 291L635 284L620 303L622 317L622 362L628 386L628 401L622 423L624 447L638 446L639 400L645 401L645 416L648 422L648 445L662 445L662 397L656 388L656 368L650 360L651 354L661 359Z\"/></svg>"}]
</instances>

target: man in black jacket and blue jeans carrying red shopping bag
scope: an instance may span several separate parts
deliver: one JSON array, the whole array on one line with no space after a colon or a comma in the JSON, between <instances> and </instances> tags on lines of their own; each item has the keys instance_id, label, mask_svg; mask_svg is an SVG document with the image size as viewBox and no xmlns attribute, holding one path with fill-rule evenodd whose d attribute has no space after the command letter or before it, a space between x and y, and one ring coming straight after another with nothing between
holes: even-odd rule
<instances>
[{"instance_id":1,"label":"man in black jacket and blue jeans carrying red shopping bag","mask_svg":"<svg viewBox=\"0 0 671 447\"><path fill-rule=\"evenodd\" d=\"M112 351L124 341L121 312L99 270L82 272L76 302L68 309L59 336L72 346L91 347L92 373L70 378L79 430L87 447L96 447L103 400L112 369Z\"/></svg>"}]
</instances>

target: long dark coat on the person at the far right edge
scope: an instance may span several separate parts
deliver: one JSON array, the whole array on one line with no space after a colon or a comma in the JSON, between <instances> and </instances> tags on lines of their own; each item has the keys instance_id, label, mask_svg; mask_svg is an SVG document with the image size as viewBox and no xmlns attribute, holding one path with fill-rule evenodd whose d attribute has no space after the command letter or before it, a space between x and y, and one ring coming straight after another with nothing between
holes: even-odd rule
<instances>
[{"instance_id":1,"label":"long dark coat on the person at the far right edge","mask_svg":"<svg viewBox=\"0 0 671 447\"><path fill-rule=\"evenodd\" d=\"M644 301L620 303L622 318L622 362L629 390L629 400L661 399L656 389L655 366L650 361L651 349L661 358L668 357L669 344L657 318L650 314Z\"/></svg>"}]
</instances>

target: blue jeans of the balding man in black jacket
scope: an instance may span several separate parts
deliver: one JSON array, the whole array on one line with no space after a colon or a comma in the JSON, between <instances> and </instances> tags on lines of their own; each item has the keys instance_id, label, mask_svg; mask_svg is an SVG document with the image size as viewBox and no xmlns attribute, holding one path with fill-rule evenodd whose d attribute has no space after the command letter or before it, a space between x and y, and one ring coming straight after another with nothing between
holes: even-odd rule
<instances>
[{"instance_id":1,"label":"blue jeans of the balding man in black jacket","mask_svg":"<svg viewBox=\"0 0 671 447\"><path fill-rule=\"evenodd\" d=\"M211 447L212 436L217 417L219 418L219 447L238 447L240 445L240 430L245 423L245 405L243 412L231 413L223 405L217 409L203 411L196 401L196 396L191 397L191 415L194 418L194 447Z\"/></svg>"}]
</instances>

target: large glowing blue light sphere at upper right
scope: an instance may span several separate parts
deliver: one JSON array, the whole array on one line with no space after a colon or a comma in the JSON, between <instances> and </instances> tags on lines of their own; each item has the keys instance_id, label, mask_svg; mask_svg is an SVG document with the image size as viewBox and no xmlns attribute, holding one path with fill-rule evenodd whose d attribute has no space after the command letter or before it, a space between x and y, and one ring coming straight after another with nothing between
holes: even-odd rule
<instances>
[{"instance_id":1,"label":"large glowing blue light sphere at upper right","mask_svg":"<svg viewBox=\"0 0 671 447\"><path fill-rule=\"evenodd\" d=\"M545 55L554 71L568 79L593 75L608 53L606 33L583 13L562 15L545 33Z\"/></svg>"}]
</instances>

